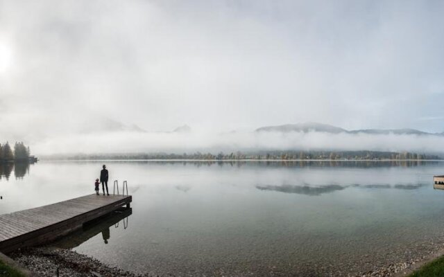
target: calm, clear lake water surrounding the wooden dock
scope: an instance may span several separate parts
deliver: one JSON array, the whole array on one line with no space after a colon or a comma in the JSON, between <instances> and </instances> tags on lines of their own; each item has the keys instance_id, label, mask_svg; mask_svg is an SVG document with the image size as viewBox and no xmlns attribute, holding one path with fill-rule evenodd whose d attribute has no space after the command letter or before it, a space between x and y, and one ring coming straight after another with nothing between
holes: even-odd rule
<instances>
[{"instance_id":1,"label":"calm, clear lake water surrounding the wooden dock","mask_svg":"<svg viewBox=\"0 0 444 277\"><path fill-rule=\"evenodd\" d=\"M102 163L3 168L0 213L94 193ZM60 244L123 269L338 275L422 255L444 240L444 191L432 184L444 163L106 164L111 180L128 180L132 214Z\"/></svg>"}]
</instances>

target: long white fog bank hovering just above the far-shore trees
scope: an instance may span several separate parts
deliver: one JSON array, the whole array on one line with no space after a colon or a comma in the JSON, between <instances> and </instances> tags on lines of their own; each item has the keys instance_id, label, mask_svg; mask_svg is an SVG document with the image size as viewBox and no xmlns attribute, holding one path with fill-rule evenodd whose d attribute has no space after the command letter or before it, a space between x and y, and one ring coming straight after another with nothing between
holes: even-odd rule
<instances>
[{"instance_id":1,"label":"long white fog bank hovering just above the far-shore trees","mask_svg":"<svg viewBox=\"0 0 444 277\"><path fill-rule=\"evenodd\" d=\"M235 152L257 150L373 150L441 152L444 136L322 132L103 132L60 134L36 141L35 154Z\"/></svg>"}]
</instances>

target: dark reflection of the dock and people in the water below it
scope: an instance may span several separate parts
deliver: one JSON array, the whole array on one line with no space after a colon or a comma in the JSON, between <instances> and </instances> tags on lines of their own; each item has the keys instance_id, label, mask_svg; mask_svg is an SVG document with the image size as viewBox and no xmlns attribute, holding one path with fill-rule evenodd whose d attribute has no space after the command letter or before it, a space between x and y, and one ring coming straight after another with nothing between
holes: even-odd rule
<instances>
[{"instance_id":1,"label":"dark reflection of the dock and people in the water below it","mask_svg":"<svg viewBox=\"0 0 444 277\"><path fill-rule=\"evenodd\" d=\"M114 226L115 228L119 228L119 222L123 220L123 229L127 229L128 217L132 214L133 208L121 208L114 213L101 217L99 220L86 223L82 230L61 238L51 245L64 249L73 249L99 234L101 234L103 238L103 243L108 244L108 241L111 239L110 227Z\"/></svg>"}]
</instances>

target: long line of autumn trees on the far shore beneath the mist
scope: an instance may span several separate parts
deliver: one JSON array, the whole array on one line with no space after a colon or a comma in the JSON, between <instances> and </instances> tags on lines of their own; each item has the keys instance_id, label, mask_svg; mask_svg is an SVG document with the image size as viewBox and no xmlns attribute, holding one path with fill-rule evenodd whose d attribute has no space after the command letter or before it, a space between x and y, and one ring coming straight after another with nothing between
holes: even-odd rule
<instances>
[{"instance_id":1,"label":"long line of autumn trees on the far shore beneath the mist","mask_svg":"<svg viewBox=\"0 0 444 277\"><path fill-rule=\"evenodd\" d=\"M414 152L379 152L379 151L260 151L230 152L218 154L195 152L192 154L169 153L128 153L128 154L78 154L69 157L72 160L84 159L121 159L121 160L438 160L438 155Z\"/></svg>"}]
</instances>

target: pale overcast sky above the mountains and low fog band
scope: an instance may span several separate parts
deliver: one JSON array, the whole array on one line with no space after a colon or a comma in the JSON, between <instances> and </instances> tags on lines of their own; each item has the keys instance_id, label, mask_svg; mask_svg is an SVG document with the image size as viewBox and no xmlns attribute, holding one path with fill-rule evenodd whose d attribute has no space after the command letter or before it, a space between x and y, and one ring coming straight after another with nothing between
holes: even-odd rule
<instances>
[{"instance_id":1,"label":"pale overcast sky above the mountains and low fog band","mask_svg":"<svg viewBox=\"0 0 444 277\"><path fill-rule=\"evenodd\" d=\"M0 138L103 120L443 132L443 14L444 1L0 0Z\"/></svg>"}]
</instances>

